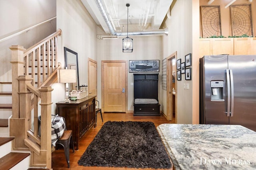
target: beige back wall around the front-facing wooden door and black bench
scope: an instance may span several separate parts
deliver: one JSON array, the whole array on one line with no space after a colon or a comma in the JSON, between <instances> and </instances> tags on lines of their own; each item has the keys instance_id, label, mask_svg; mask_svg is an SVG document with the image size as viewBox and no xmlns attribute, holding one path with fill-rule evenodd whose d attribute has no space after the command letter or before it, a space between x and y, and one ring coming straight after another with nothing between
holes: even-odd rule
<instances>
[{"instance_id":1,"label":"beige back wall around the front-facing wooden door and black bench","mask_svg":"<svg viewBox=\"0 0 256 170\"><path fill-rule=\"evenodd\" d=\"M98 34L102 34L102 29L98 27ZM164 35L165 36L165 35ZM97 62L98 62L98 100L101 102L101 61L102 60L160 60L160 72L158 80L158 98L161 104L162 89L162 37L163 36L129 36L133 39L133 52L122 52L122 39L97 40ZM128 72L128 111L133 111L134 86L130 86L133 82L133 72ZM161 109L161 108L160 108Z\"/></svg>"}]
</instances>

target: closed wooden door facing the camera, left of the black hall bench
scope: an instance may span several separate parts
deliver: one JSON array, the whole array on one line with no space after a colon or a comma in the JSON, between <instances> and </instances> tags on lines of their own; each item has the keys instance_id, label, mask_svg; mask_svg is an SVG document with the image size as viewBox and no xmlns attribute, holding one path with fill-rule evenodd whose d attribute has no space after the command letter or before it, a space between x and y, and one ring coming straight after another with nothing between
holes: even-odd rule
<instances>
[{"instance_id":1,"label":"closed wooden door facing the camera, left of the black hall bench","mask_svg":"<svg viewBox=\"0 0 256 170\"><path fill-rule=\"evenodd\" d=\"M126 112L126 65L126 62L104 63L104 112Z\"/></svg>"}]
</instances>

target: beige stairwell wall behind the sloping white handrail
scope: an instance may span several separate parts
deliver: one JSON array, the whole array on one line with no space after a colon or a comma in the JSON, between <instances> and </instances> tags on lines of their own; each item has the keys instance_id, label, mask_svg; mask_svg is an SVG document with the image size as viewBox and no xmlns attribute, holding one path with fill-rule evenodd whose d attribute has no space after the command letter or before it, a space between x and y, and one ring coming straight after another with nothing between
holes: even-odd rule
<instances>
[{"instance_id":1,"label":"beige stairwell wall behind the sloping white handrail","mask_svg":"<svg viewBox=\"0 0 256 170\"><path fill-rule=\"evenodd\" d=\"M56 16L56 0L1 0L0 39ZM28 48L56 31L56 19L0 42L0 81L11 82L11 45Z\"/></svg>"}]
</instances>

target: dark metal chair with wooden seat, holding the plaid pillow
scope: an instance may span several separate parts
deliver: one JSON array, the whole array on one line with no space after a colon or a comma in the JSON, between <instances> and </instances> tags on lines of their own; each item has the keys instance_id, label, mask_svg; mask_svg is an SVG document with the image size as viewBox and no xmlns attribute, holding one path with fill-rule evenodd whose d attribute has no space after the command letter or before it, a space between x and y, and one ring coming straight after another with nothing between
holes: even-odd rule
<instances>
[{"instance_id":1,"label":"dark metal chair with wooden seat, holding the plaid pillow","mask_svg":"<svg viewBox=\"0 0 256 170\"><path fill-rule=\"evenodd\" d=\"M64 119L64 117L63 117L63 119ZM74 141L73 141L73 136L72 136L72 130L66 130L65 119L64 119L64 123L65 123L65 131L64 131L64 133L63 133L63 135L61 137L59 137L57 129L55 129L54 127L52 127L52 128L54 129L55 134L56 134L56 136L58 138L57 141L56 141L56 144L60 144L60 145L63 146L65 157L66 157L66 161L68 163L68 168L70 168L70 163L69 163L69 146L70 146L70 142L71 142L73 152L75 152L75 150L74 150Z\"/></svg>"}]
</instances>

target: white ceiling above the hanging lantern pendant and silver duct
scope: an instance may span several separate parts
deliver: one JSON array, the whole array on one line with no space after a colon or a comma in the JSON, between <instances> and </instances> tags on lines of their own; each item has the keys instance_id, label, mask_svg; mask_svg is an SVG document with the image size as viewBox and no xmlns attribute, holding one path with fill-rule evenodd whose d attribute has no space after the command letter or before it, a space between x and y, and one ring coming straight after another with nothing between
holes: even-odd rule
<instances>
[{"instance_id":1,"label":"white ceiling above the hanging lantern pendant and silver duct","mask_svg":"<svg viewBox=\"0 0 256 170\"><path fill-rule=\"evenodd\" d=\"M81 0L96 24L110 33L94 0ZM129 31L159 29L173 0L102 0L105 9L112 18L117 32L126 32L127 7ZM146 24L145 24L146 22ZM125 27L124 27L125 25ZM136 25L130 27L130 25ZM132 30L131 30L132 29ZM136 29L136 30L135 30Z\"/></svg>"}]
</instances>

